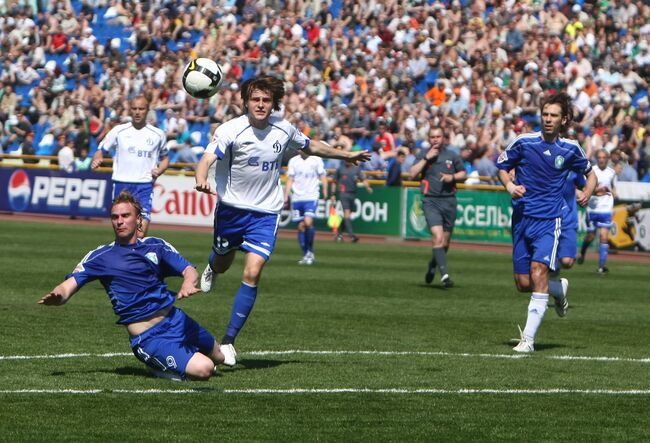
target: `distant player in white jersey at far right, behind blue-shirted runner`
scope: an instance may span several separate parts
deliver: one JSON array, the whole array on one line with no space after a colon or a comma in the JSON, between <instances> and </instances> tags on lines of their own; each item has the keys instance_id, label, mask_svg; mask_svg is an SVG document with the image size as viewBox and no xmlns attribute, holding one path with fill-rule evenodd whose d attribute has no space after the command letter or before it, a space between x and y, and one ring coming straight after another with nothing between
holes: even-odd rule
<instances>
[{"instance_id":1,"label":"distant player in white jersey at far right, behind blue-shirted runner","mask_svg":"<svg viewBox=\"0 0 650 443\"><path fill-rule=\"evenodd\" d=\"M607 166L609 153L605 149L596 152L596 167L594 172L598 178L598 185L594 195L589 199L587 205L587 235L580 248L578 264L585 261L585 254L594 238L596 231L600 239L598 246L598 273L606 274L607 255L609 253L609 230L612 227L612 212L614 211L614 199L616 198L616 172Z\"/></svg>"}]
</instances>

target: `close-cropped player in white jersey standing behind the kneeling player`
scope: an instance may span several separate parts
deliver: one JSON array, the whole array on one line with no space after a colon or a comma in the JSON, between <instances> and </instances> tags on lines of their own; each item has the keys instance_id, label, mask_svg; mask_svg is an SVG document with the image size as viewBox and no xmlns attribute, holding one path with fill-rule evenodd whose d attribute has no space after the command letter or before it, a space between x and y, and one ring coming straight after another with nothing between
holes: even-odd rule
<instances>
[{"instance_id":1,"label":"close-cropped player in white jersey standing behind the kneeling player","mask_svg":"<svg viewBox=\"0 0 650 443\"><path fill-rule=\"evenodd\" d=\"M113 198L127 189L142 206L142 228L138 236L144 238L151 221L153 183L169 166L165 133L147 124L149 101L139 95L131 102L131 121L115 126L101 141L93 156L91 167L102 164L104 154L113 156Z\"/></svg>"}]
</instances>

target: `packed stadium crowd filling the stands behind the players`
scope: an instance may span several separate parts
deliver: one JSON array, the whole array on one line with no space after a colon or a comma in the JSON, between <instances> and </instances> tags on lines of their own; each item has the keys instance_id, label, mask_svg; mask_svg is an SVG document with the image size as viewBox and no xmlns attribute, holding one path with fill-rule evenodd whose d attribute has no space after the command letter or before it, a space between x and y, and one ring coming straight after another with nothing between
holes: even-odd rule
<instances>
[{"instance_id":1,"label":"packed stadium crowd filling the stands behind the players","mask_svg":"<svg viewBox=\"0 0 650 443\"><path fill-rule=\"evenodd\" d=\"M239 84L269 73L285 82L292 123L341 149L373 151L372 170L394 169L399 157L408 171L440 125L469 183L480 182L519 133L539 128L544 94L566 90L576 114L568 135L591 159L609 151L619 180L650 181L643 3L6 1L0 148L53 155L66 146L87 158L145 94L173 161L196 162L215 125L242 113ZM181 86L196 57L225 73L209 100Z\"/></svg>"}]
</instances>

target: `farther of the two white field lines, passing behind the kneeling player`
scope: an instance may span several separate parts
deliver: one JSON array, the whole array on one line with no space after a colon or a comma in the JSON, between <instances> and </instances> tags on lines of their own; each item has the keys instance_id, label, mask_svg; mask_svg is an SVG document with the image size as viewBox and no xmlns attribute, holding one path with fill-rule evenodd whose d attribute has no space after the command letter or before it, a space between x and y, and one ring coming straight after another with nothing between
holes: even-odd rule
<instances>
[{"instance_id":1,"label":"farther of the two white field lines, passing behind the kneeling player","mask_svg":"<svg viewBox=\"0 0 650 443\"><path fill-rule=\"evenodd\" d=\"M43 354L43 355L0 355L2 360L48 360L59 358L113 358L132 356L130 352L107 352L102 354ZM525 354L473 354L467 352L445 352L445 351L312 351L305 349L289 349L285 351L249 351L242 352L245 356L269 356L269 355L369 355L369 356L431 356L431 357L461 357L461 358L495 358L506 360L520 360L531 358L531 355ZM646 358L628 358L628 357L598 357L598 356L579 356L579 355L535 355L535 358L544 358L547 360L566 360L566 361L595 361L595 362L629 362L629 363L650 363L650 357Z\"/></svg>"}]
</instances>

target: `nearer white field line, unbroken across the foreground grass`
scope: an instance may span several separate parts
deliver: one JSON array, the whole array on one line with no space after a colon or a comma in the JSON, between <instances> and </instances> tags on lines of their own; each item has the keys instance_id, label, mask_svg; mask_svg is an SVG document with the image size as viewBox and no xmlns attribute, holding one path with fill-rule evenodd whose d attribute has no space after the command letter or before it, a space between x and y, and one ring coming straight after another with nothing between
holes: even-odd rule
<instances>
[{"instance_id":1,"label":"nearer white field line, unbroken across the foreground grass","mask_svg":"<svg viewBox=\"0 0 650 443\"><path fill-rule=\"evenodd\" d=\"M324 395L324 394L389 394L389 395L650 395L648 389L369 389L369 388L338 388L338 389L14 389L0 390L0 395L17 394L277 394L277 395Z\"/></svg>"}]
</instances>

